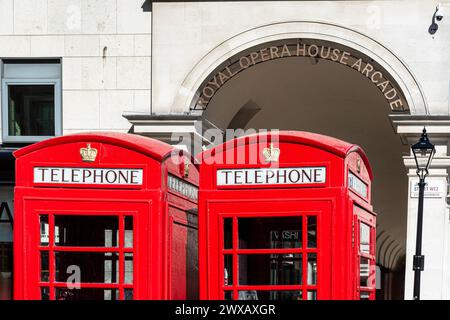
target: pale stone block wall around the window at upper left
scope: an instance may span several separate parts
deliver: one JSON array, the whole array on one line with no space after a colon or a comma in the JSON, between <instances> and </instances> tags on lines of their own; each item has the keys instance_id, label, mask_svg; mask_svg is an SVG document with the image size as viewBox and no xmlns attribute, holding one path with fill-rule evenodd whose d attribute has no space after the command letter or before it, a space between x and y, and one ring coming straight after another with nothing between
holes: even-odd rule
<instances>
[{"instance_id":1,"label":"pale stone block wall around the window at upper left","mask_svg":"<svg viewBox=\"0 0 450 320\"><path fill-rule=\"evenodd\" d=\"M1 58L62 58L64 134L128 131L150 112L151 12L144 0L0 0Z\"/></svg>"}]
</instances>

